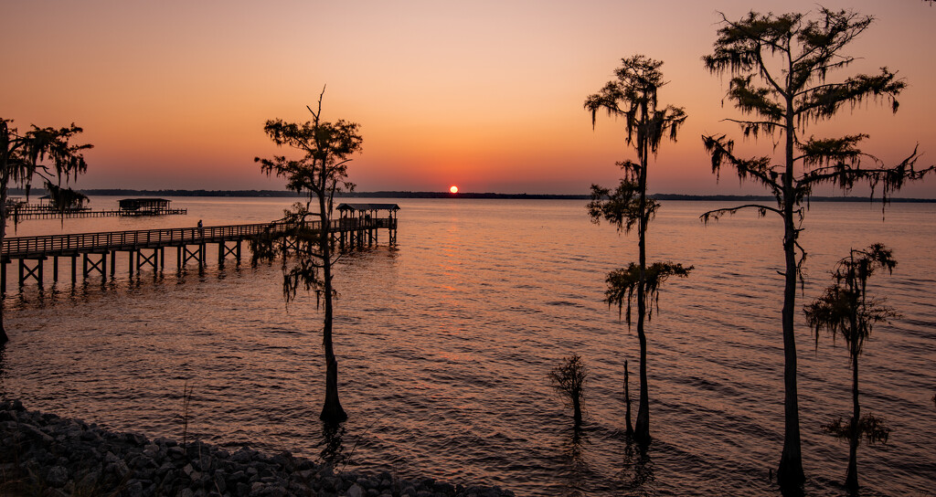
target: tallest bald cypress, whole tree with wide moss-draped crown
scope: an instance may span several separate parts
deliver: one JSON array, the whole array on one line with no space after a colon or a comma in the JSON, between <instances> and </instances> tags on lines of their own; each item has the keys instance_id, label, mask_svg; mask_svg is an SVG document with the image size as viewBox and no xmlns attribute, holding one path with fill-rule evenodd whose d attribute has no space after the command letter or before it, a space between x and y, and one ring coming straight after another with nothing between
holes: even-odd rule
<instances>
[{"instance_id":1,"label":"tallest bald cypress, whole tree with wide moss-draped crown","mask_svg":"<svg viewBox=\"0 0 936 497\"><path fill-rule=\"evenodd\" d=\"M727 99L743 115L750 116L727 121L739 124L745 138L765 136L771 141L771 150L781 152L778 157L743 158L734 153L734 140L724 135L702 137L711 156L712 172L733 168L741 181L765 187L776 203L719 209L705 212L701 219L709 222L724 214L753 209L761 217L776 215L782 222L784 435L777 472L782 490L797 490L805 480L794 314L797 283L801 282L800 270L806 258L799 234L812 189L827 184L847 192L856 183L868 183L872 197L880 192L886 204L888 196L904 183L919 180L933 170L914 170L919 158L915 148L899 164L885 166L861 150L861 142L869 138L863 133L839 138L810 134L806 138L813 124L831 120L840 110L854 109L867 100L888 101L894 112L898 110L897 96L906 83L886 67L878 74L832 79L855 61L843 51L872 21L851 10L826 8L812 15L751 12L739 21L729 21L723 14L713 51L703 57L710 72L730 77Z\"/></svg>"}]
</instances>

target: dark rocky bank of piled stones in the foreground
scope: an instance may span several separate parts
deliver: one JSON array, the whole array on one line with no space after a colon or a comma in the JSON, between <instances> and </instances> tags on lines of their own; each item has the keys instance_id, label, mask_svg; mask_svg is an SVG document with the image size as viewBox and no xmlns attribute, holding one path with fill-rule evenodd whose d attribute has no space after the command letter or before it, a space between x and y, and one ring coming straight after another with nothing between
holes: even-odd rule
<instances>
[{"instance_id":1,"label":"dark rocky bank of piled stones in the foreground","mask_svg":"<svg viewBox=\"0 0 936 497\"><path fill-rule=\"evenodd\" d=\"M235 452L136 433L0 402L0 495L113 496L513 496L496 487L463 487L431 478L336 472L289 452Z\"/></svg>"}]
</instances>

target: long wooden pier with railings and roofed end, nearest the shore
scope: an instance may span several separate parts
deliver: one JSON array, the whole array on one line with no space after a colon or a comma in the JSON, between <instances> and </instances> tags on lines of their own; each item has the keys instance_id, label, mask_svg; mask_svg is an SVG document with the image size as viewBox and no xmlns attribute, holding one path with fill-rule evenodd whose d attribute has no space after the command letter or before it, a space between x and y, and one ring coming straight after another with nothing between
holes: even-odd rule
<instances>
[{"instance_id":1,"label":"long wooden pier with railings and roofed end, nearest the shore","mask_svg":"<svg viewBox=\"0 0 936 497\"><path fill-rule=\"evenodd\" d=\"M336 243L342 244L342 250L354 250L363 247L363 239L368 233L369 243L377 241L377 230L386 228L391 233L391 243L396 241L396 217L392 222L388 218L348 217L331 221L331 234ZM316 224L311 224L315 229ZM166 268L166 249L175 249L176 268L183 270L191 261L198 269L208 263L209 245L217 245L217 263L223 267L225 259L232 256L237 264L241 263L241 245L243 241L269 235L270 231L285 229L284 224L258 223L251 225L230 225L218 227L177 227L163 229L140 229L130 231L104 231L98 233L78 233L71 235L44 235L37 237L7 237L3 241L0 254L0 292L7 291L7 265L17 261L19 284L35 279L39 285L45 281L45 262L52 259L52 281L59 280L59 259L70 259L71 283L78 282L78 268L82 280L92 274L100 274L102 281L114 277L119 253L127 255L127 271L132 277L134 272L152 268L154 273ZM344 241L347 241L345 244ZM353 242L352 242L353 241ZM79 263L79 258L81 259ZM110 262L110 266L109 266Z\"/></svg>"}]
</instances>

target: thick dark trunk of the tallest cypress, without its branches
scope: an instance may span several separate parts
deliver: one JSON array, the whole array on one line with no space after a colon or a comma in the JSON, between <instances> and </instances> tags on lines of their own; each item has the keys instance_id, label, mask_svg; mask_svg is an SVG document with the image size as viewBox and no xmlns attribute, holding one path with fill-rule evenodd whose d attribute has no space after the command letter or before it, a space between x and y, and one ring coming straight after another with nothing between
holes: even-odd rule
<instances>
[{"instance_id":1,"label":"thick dark trunk of the tallest cypress, without its branches","mask_svg":"<svg viewBox=\"0 0 936 497\"><path fill-rule=\"evenodd\" d=\"M793 121L793 95L786 96L786 168L783 177L783 256L786 261L785 284L783 286L783 451L777 482L784 493L800 490L806 475L803 474L803 457L799 441L799 401L797 397L797 341L793 328L793 317L797 305L797 227L793 206L796 193L793 188L794 155L793 143L796 128Z\"/></svg>"}]
</instances>

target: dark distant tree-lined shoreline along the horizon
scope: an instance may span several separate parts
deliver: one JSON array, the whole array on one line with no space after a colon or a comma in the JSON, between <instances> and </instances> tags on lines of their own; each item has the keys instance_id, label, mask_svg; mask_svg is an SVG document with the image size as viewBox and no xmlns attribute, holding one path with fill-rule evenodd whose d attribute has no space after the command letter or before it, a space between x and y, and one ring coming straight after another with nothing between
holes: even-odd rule
<instances>
[{"instance_id":1,"label":"dark distant tree-lined shoreline along the horizon","mask_svg":"<svg viewBox=\"0 0 936 497\"><path fill-rule=\"evenodd\" d=\"M131 189L87 189L79 190L87 196L99 197L291 197L300 195L285 190L131 190ZM32 195L42 196L45 192L35 189ZM10 188L11 196L23 196L22 188ZM499 193L458 193L448 192L351 192L337 194L343 198L501 198L501 199L528 199L528 200L588 200L590 195L560 195L560 194L499 194ZM725 202L773 202L773 197L758 195L682 195L682 194L652 194L657 200L695 200L695 201L725 201ZM812 202L880 202L875 197L810 197ZM889 198L894 203L936 203L936 198Z\"/></svg>"}]
</instances>

